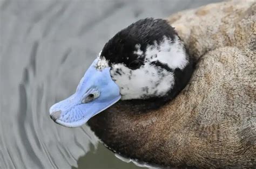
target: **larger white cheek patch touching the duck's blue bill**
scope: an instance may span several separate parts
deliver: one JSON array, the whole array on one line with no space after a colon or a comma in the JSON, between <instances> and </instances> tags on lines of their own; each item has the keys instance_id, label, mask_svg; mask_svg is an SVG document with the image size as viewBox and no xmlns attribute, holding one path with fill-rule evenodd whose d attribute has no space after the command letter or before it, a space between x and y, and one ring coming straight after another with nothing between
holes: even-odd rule
<instances>
[{"instance_id":1,"label":"larger white cheek patch touching the duck's blue bill","mask_svg":"<svg viewBox=\"0 0 256 169\"><path fill-rule=\"evenodd\" d=\"M150 62L134 70L114 64L110 73L120 88L122 100L164 96L174 85L173 73L150 65Z\"/></svg>"}]
</instances>

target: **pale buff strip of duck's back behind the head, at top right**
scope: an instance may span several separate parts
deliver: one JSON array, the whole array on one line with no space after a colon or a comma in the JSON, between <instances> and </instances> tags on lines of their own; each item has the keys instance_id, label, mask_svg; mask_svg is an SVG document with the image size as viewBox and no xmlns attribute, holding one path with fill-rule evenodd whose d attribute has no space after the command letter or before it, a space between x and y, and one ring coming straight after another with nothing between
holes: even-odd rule
<instances>
[{"instance_id":1,"label":"pale buff strip of duck's back behind the head, at top right","mask_svg":"<svg viewBox=\"0 0 256 169\"><path fill-rule=\"evenodd\" d=\"M235 0L178 12L167 20L178 31L190 54L199 59L220 47L255 51L256 2Z\"/></svg>"}]
</instances>

